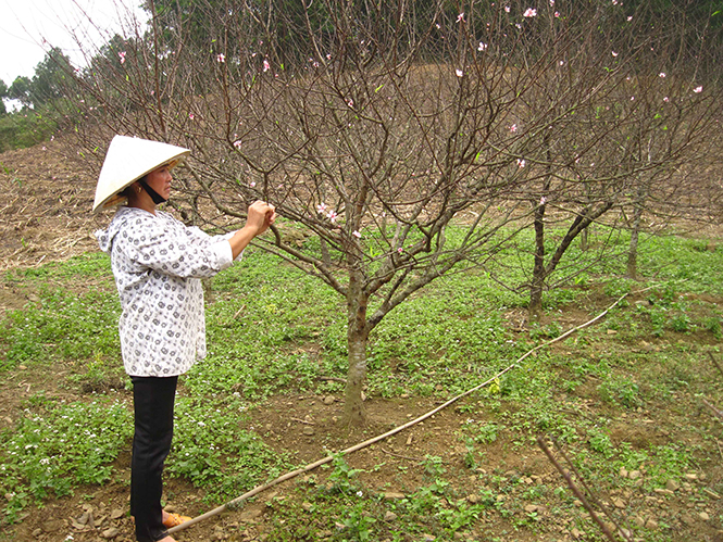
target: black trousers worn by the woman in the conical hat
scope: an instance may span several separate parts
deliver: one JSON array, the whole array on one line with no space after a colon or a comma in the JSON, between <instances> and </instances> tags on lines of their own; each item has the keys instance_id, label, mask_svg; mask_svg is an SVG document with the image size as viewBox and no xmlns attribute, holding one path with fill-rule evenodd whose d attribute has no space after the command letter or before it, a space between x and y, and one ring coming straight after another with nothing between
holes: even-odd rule
<instances>
[{"instance_id":1,"label":"black trousers worn by the woman in the conical hat","mask_svg":"<svg viewBox=\"0 0 723 542\"><path fill-rule=\"evenodd\" d=\"M155 542L169 535L163 526L163 463L173 440L173 406L178 377L130 377L135 433L130 459L130 515L136 539Z\"/></svg>"}]
</instances>

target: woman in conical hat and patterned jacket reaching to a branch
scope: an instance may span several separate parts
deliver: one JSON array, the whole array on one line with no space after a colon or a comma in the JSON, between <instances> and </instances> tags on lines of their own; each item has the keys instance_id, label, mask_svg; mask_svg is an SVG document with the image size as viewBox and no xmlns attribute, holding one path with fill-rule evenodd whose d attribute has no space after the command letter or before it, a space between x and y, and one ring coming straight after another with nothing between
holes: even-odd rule
<instances>
[{"instance_id":1,"label":"woman in conical hat and patterned jacket reaching to a branch","mask_svg":"<svg viewBox=\"0 0 723 542\"><path fill-rule=\"evenodd\" d=\"M171 451L178 375L205 355L200 278L230 266L276 218L273 205L257 201L244 228L210 237L157 210L171 193L171 169L188 152L116 136L94 203L97 212L127 200L96 236L111 256L123 308L121 350L133 381L135 416L130 515L141 542L173 542L166 529L189 519L163 511L161 476Z\"/></svg>"}]
</instances>

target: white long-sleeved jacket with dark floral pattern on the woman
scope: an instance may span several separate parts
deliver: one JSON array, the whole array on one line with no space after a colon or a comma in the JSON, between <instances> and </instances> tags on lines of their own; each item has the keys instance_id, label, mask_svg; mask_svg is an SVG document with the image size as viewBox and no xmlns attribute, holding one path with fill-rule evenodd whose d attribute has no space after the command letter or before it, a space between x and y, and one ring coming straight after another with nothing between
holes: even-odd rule
<instances>
[{"instance_id":1,"label":"white long-sleeved jacket with dark floral pattern on the woman","mask_svg":"<svg viewBox=\"0 0 723 542\"><path fill-rule=\"evenodd\" d=\"M121 297L119 330L128 375L180 375L205 356L199 279L232 265L232 236L211 237L162 211L153 215L126 206L107 230L96 231Z\"/></svg>"}]
</instances>

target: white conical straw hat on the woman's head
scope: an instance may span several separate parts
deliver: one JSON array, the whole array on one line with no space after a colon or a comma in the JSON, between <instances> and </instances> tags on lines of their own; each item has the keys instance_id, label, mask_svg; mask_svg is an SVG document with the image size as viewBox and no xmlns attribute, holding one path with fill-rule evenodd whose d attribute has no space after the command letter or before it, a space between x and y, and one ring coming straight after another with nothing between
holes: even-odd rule
<instances>
[{"instance_id":1,"label":"white conical straw hat on the woman's head","mask_svg":"<svg viewBox=\"0 0 723 542\"><path fill-rule=\"evenodd\" d=\"M125 197L119 192L162 165L174 167L189 152L188 149L174 144L115 136L100 169L92 212L123 203Z\"/></svg>"}]
</instances>

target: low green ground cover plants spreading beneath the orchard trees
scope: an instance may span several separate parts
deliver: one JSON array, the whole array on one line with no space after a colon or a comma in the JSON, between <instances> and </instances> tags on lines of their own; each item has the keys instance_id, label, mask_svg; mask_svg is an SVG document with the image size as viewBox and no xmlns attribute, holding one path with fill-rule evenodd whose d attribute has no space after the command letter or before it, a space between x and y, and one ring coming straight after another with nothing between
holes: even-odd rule
<instances>
[{"instance_id":1,"label":"low green ground cover plants spreading beneath the orchard trees","mask_svg":"<svg viewBox=\"0 0 723 542\"><path fill-rule=\"evenodd\" d=\"M631 299L450 408L439 444L433 444L435 426L426 425L412 442L429 449L402 450L407 459L383 454L358 466L353 456L337 457L267 502L261 496L265 540L453 540L456 532L483 540L484 529L490 529L484 540L531 540L558 533L559 526L595 537L564 482L537 476L522 459L538 434L554 437L606 495L619 492L613 496L625 501L626 519L645 516L629 526L636 535L676 540L687 508L656 509L662 516L651 527L650 511L633 504L645 503L644 496L636 501L625 492L659 495L656 490L670 480L686 483L690 472L715 463L720 440L699 399L723 402L723 376L708 355L721 354L715 300L723 293L716 280L723 251L702 245L648 239L641 272L650 280L643 282L621 278L622 266L587 262L577 275L584 280L551 292L546 318L528 329L510 316L524 314L524 292L495 280L503 272L513 283L524 281L523 260L512 252L434 282L390 313L370 341L366 393L375 403L401 402L401 408L394 406L400 413L470 389L620 295ZM662 265L673 260L682 267ZM33 393L13 405L12 424L2 429L2 520L17 526L34 506L73 499L114 477L119 454L130 444L130 396L105 255L11 270L1 279L27 298L25 306L2 316L3 393L11 396L17 383L25 389L30 375L57 375L52 382L33 380ZM635 294L641 288L649 289ZM207 283L207 292L209 356L180 380L166 471L211 505L344 448L334 444L342 442L339 436L325 434L334 427L332 414L308 421L320 446L314 451L300 454L302 441L290 440L295 431L287 428L297 395L341 394L346 315L334 292L258 250ZM575 312L582 315L573 322ZM63 402L61 395L74 399ZM691 405L698 408L695 423ZM721 494L722 482L714 480L705 488ZM389 490L402 496L385 496ZM723 520L703 486L690 486L685 495L711 511L705 512L711 525Z\"/></svg>"}]
</instances>

